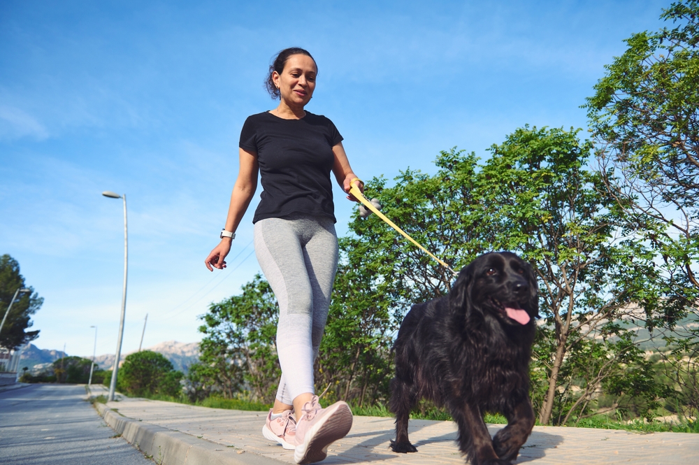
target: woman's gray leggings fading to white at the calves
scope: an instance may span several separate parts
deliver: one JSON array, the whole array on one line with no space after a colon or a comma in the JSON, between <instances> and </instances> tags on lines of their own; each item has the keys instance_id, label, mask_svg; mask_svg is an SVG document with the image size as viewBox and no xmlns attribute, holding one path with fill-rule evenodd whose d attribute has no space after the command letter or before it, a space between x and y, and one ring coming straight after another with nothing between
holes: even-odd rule
<instances>
[{"instance_id":1,"label":"woman's gray leggings fading to white at the calves","mask_svg":"<svg viewBox=\"0 0 699 465\"><path fill-rule=\"evenodd\" d=\"M338 236L330 218L267 218L255 223L254 243L260 268L279 302L282 378L277 399L291 405L299 394L315 392L313 362L338 268Z\"/></svg>"}]
</instances>

